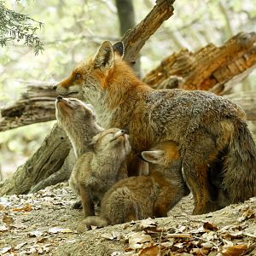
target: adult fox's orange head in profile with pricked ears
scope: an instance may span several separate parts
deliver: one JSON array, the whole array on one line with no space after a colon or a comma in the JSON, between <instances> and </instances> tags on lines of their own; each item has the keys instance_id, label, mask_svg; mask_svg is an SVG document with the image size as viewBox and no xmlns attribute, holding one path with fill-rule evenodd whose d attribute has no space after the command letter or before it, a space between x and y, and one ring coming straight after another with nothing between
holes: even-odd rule
<instances>
[{"instance_id":1,"label":"adult fox's orange head in profile with pricked ears","mask_svg":"<svg viewBox=\"0 0 256 256\"><path fill-rule=\"evenodd\" d=\"M117 62L125 65L121 61L123 49L122 42L114 45L103 42L94 58L81 62L67 79L56 84L53 89L58 95L73 96L84 102L101 101L104 91L113 82L114 73L118 72Z\"/></svg>"}]
</instances>

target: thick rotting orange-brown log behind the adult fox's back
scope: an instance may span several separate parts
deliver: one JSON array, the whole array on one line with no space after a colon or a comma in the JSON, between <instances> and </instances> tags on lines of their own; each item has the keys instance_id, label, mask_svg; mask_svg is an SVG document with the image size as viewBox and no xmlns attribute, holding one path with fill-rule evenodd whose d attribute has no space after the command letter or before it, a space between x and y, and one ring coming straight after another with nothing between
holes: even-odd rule
<instances>
[{"instance_id":1,"label":"thick rotting orange-brown log behind the adult fox's back","mask_svg":"<svg viewBox=\"0 0 256 256\"><path fill-rule=\"evenodd\" d=\"M177 84L178 88L211 90L224 95L256 65L255 43L255 32L241 32L221 47L208 44L195 53L182 49L161 61L160 66L148 73L143 81L153 88L163 88L163 84L170 88L167 79L177 76L183 79Z\"/></svg>"}]
</instances>

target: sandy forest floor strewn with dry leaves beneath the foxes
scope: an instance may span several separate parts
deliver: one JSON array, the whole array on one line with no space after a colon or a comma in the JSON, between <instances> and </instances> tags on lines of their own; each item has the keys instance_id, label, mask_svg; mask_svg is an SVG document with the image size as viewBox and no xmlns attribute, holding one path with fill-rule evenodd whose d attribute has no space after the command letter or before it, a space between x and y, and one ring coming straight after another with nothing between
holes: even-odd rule
<instances>
[{"instance_id":1,"label":"sandy forest floor strewn with dry leaves beneath the foxes","mask_svg":"<svg viewBox=\"0 0 256 256\"><path fill-rule=\"evenodd\" d=\"M196 216L189 195L168 218L85 231L75 200L67 183L0 198L0 255L256 255L256 198Z\"/></svg>"}]
</instances>

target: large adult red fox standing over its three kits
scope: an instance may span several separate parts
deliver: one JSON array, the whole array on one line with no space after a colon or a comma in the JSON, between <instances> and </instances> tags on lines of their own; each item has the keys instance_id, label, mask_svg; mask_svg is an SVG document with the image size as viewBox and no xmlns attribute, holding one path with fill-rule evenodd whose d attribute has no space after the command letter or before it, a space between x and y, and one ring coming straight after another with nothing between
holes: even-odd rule
<instances>
[{"instance_id":1,"label":"large adult red fox standing over its three kits","mask_svg":"<svg viewBox=\"0 0 256 256\"><path fill-rule=\"evenodd\" d=\"M166 140L177 143L195 214L219 208L208 170L216 162L226 205L256 195L256 147L243 110L206 91L151 89L115 53L121 46L103 42L94 58L54 86L56 92L93 105L104 128L128 131L134 152Z\"/></svg>"}]
</instances>

